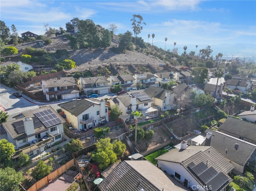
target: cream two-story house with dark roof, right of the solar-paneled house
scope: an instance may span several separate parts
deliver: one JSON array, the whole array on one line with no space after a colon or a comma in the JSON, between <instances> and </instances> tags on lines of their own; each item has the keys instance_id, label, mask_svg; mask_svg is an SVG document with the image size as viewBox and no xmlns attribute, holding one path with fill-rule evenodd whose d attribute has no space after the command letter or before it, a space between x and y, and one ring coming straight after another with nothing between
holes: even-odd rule
<instances>
[{"instance_id":1,"label":"cream two-story house with dark roof, right of the solar-paneled house","mask_svg":"<svg viewBox=\"0 0 256 191\"><path fill-rule=\"evenodd\" d=\"M96 98L72 100L58 104L66 115L66 120L77 131L87 131L98 126L102 120L108 121L108 106L105 100Z\"/></svg>"}]
</instances>

